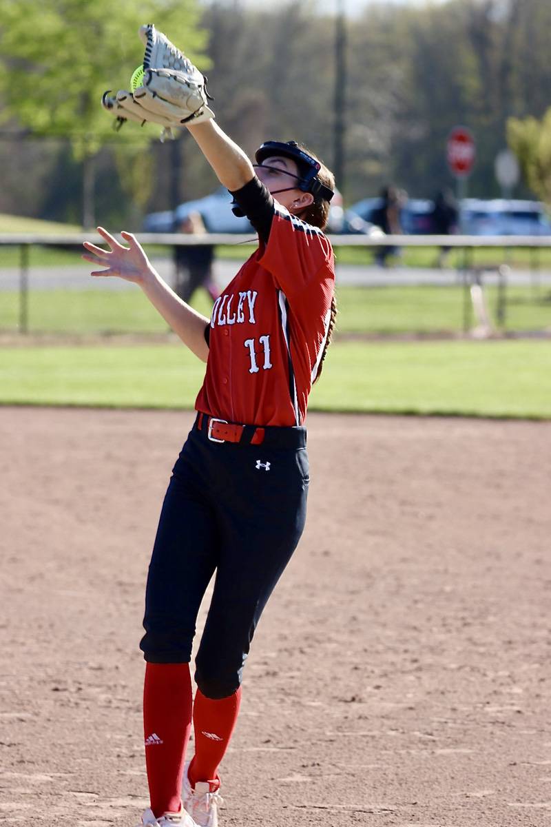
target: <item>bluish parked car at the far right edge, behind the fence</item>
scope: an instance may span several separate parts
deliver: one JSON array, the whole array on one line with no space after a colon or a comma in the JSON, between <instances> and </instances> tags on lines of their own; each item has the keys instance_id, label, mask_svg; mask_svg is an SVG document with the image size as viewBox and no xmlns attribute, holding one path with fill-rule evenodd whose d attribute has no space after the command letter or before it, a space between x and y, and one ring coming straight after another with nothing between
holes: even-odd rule
<instances>
[{"instance_id":1,"label":"bluish parked car at the far right edge, behind the fence","mask_svg":"<svg viewBox=\"0 0 551 827\"><path fill-rule=\"evenodd\" d=\"M551 222L539 201L464 198L461 219L468 236L551 235Z\"/></svg>"}]
</instances>

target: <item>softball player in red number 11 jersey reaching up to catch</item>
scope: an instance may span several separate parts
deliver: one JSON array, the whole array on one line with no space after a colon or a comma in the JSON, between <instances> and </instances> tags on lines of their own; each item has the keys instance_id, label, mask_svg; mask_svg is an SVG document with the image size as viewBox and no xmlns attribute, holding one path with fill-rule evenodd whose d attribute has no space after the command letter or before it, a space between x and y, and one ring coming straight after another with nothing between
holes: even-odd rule
<instances>
[{"instance_id":1,"label":"softball player in red number 11 jersey reaching up to catch","mask_svg":"<svg viewBox=\"0 0 551 827\"><path fill-rule=\"evenodd\" d=\"M189 126L259 246L210 320L161 280L135 237L85 243L95 276L140 284L207 370L197 418L164 499L145 596L142 825L216 827L218 767L240 707L260 614L297 547L309 483L306 404L335 321L334 256L322 232L334 179L295 142L268 141L256 165L212 120ZM273 196L277 196L277 201ZM197 611L216 573L197 652ZM184 764L191 726L195 755Z\"/></svg>"}]
</instances>

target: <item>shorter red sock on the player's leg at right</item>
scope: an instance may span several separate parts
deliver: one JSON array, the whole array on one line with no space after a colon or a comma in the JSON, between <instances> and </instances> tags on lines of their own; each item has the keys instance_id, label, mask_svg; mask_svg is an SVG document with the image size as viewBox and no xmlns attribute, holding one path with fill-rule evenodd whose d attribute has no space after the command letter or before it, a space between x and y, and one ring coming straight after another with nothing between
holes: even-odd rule
<instances>
[{"instance_id":1,"label":"shorter red sock on the player's leg at right","mask_svg":"<svg viewBox=\"0 0 551 827\"><path fill-rule=\"evenodd\" d=\"M241 687L229 698L218 700L206 698L197 690L193 704L195 757L188 770L192 786L207 781L213 792L220 786L217 770L235 729L240 702Z\"/></svg>"}]
</instances>

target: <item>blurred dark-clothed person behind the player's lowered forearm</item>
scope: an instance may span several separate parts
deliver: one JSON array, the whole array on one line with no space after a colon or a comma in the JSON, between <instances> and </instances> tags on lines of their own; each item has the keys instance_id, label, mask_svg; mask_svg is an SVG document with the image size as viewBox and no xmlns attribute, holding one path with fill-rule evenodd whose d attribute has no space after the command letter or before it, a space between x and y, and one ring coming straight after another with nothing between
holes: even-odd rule
<instances>
[{"instance_id":1,"label":"blurred dark-clothed person behind the player's lowered forearm","mask_svg":"<svg viewBox=\"0 0 551 827\"><path fill-rule=\"evenodd\" d=\"M174 227L174 232L207 232L201 213L189 213ZM220 295L212 275L214 246L211 244L193 244L174 247L174 292L184 302L189 302L197 288L204 287L215 302Z\"/></svg>"}]
</instances>

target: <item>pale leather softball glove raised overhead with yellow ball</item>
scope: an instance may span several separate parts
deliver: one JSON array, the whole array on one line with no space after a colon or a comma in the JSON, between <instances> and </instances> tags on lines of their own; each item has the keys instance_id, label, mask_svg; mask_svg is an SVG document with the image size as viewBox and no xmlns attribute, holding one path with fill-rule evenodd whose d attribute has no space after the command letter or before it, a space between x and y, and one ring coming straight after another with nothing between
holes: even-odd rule
<instances>
[{"instance_id":1,"label":"pale leather softball glove raised overhead with yellow ball","mask_svg":"<svg viewBox=\"0 0 551 827\"><path fill-rule=\"evenodd\" d=\"M206 79L192 62L153 24L140 26L139 34L145 45L142 85L116 95L109 89L102 97L103 108L116 115L116 129L126 121L159 123L163 140L172 127L214 117L207 106Z\"/></svg>"}]
</instances>

